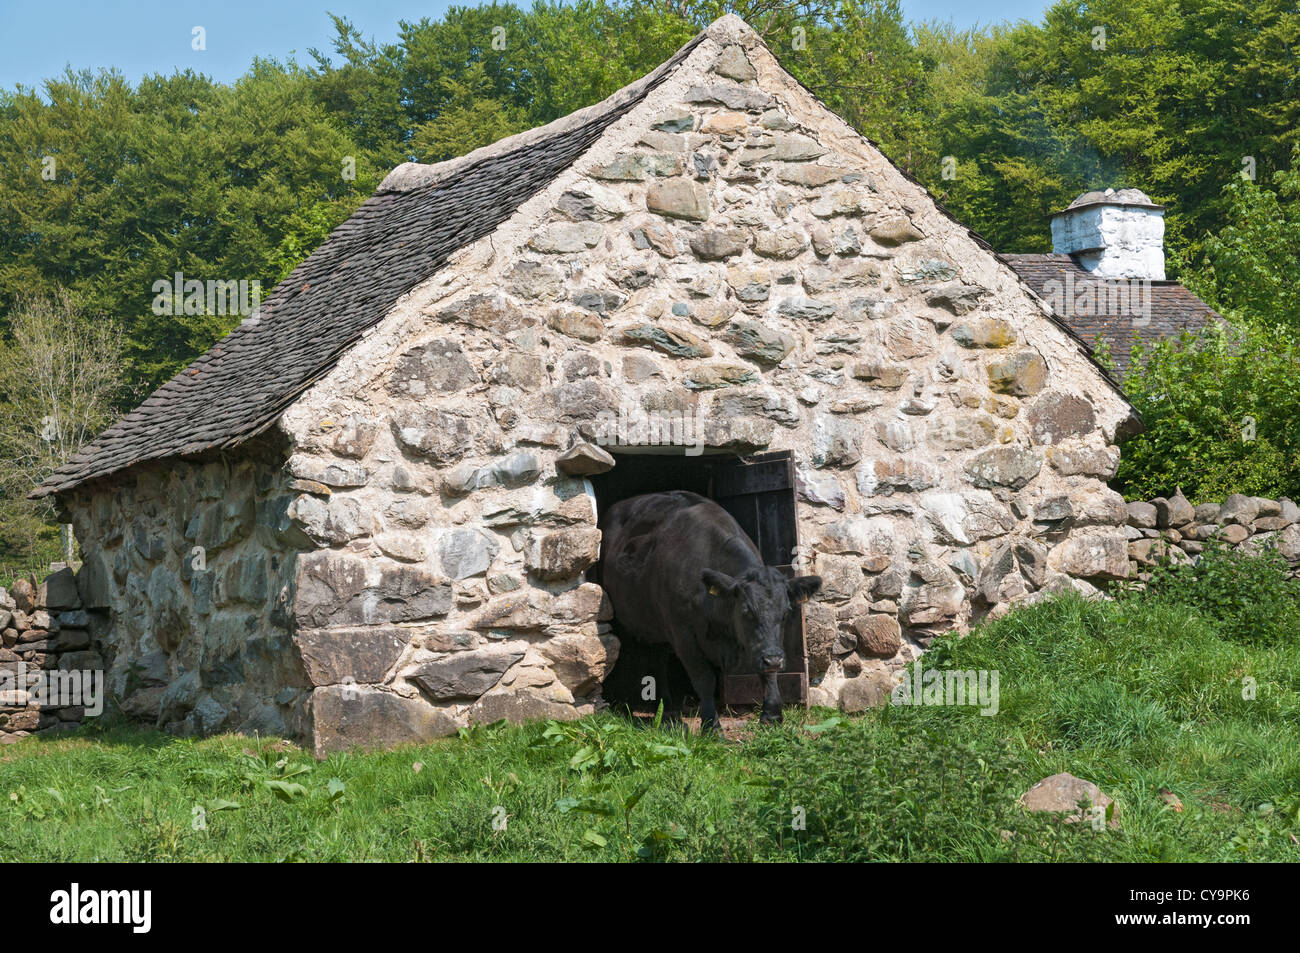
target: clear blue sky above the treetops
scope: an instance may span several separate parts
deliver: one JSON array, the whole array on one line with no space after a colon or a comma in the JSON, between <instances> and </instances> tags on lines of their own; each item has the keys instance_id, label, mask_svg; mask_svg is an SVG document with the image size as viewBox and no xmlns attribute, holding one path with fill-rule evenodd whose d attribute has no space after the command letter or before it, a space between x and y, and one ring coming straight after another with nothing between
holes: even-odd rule
<instances>
[{"instance_id":1,"label":"clear blue sky above the treetops","mask_svg":"<svg viewBox=\"0 0 1300 953\"><path fill-rule=\"evenodd\" d=\"M462 0L464 3L464 0ZM911 20L958 26L1037 20L1048 0L904 0ZM147 73L192 68L229 82L255 56L307 62L311 47L329 51L326 10L347 17L367 36L393 40L399 20L437 17L448 0L0 0L0 87L75 69L116 66L133 82ZM192 49L192 30L207 49Z\"/></svg>"}]
</instances>

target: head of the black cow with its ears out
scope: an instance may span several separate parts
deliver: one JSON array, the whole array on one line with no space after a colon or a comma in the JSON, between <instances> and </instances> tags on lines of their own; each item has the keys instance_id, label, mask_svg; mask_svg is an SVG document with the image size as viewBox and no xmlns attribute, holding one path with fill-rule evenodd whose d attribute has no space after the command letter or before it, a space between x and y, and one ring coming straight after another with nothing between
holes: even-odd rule
<instances>
[{"instance_id":1,"label":"head of the black cow with its ears out","mask_svg":"<svg viewBox=\"0 0 1300 953\"><path fill-rule=\"evenodd\" d=\"M763 566L741 576L705 569L708 594L722 599L736 642L763 673L785 667L785 620L794 606L822 588L820 576L786 579L780 569Z\"/></svg>"}]
</instances>

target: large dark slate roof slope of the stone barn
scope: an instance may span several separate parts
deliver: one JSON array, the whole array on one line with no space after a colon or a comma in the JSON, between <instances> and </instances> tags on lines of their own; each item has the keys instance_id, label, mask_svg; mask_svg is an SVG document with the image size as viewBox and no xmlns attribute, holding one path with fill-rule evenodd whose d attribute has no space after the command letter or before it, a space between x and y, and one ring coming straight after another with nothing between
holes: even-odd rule
<instances>
[{"instance_id":1,"label":"large dark slate roof slope of the stone barn","mask_svg":"<svg viewBox=\"0 0 1300 953\"><path fill-rule=\"evenodd\" d=\"M577 161L703 36L594 107L462 159L399 166L276 286L256 322L240 324L72 456L31 497L146 460L230 449L266 430L399 298Z\"/></svg>"}]
</instances>

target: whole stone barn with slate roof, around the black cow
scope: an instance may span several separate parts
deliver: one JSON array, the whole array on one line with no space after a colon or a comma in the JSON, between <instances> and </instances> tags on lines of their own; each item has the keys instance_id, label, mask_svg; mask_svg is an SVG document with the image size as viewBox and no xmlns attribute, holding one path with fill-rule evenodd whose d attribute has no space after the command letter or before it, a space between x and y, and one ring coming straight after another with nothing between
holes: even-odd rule
<instances>
[{"instance_id":1,"label":"whole stone barn with slate roof, around the black cow","mask_svg":"<svg viewBox=\"0 0 1300 953\"><path fill-rule=\"evenodd\" d=\"M603 103L393 170L39 493L125 711L325 753L602 706L602 507L666 488L822 575L783 692L861 710L936 633L1127 576L1105 481L1135 424L728 16Z\"/></svg>"}]
</instances>

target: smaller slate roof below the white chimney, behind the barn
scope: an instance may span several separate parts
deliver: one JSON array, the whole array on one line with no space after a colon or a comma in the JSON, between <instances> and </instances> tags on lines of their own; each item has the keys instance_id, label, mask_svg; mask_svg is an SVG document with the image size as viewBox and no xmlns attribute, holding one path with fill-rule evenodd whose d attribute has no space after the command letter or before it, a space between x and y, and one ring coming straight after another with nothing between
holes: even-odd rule
<instances>
[{"instance_id":1,"label":"smaller slate roof below the white chimney, behind the barn","mask_svg":"<svg viewBox=\"0 0 1300 953\"><path fill-rule=\"evenodd\" d=\"M1115 307L1123 300L1118 293L1128 282L1095 278L1070 255L1004 254L1001 257L1035 294L1052 304L1052 309L1089 350L1096 347L1097 338L1104 338L1121 373L1128 371L1135 335L1150 346L1157 341L1178 337L1184 330L1199 333L1206 324L1223 320L1176 281L1149 282L1149 295L1140 286L1130 285L1134 295L1131 306ZM1067 307L1070 290L1075 298L1086 294L1088 300L1097 302L1101 306L1100 313L1080 313L1079 309Z\"/></svg>"}]
</instances>

